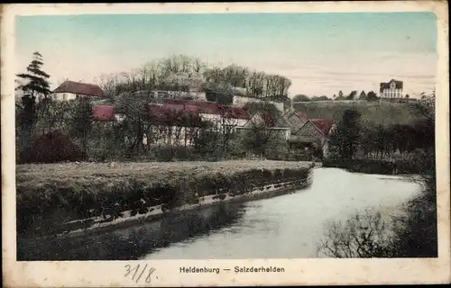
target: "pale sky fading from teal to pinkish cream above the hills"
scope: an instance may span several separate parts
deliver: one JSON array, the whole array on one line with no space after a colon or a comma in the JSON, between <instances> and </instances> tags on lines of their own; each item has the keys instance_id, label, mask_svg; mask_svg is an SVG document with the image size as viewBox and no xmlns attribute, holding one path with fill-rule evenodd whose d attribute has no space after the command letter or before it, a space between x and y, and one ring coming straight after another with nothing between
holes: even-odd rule
<instances>
[{"instance_id":1,"label":"pale sky fading from teal to pinkish cream above the hills","mask_svg":"<svg viewBox=\"0 0 451 288\"><path fill-rule=\"evenodd\" d=\"M437 75L432 13L91 14L18 16L16 71L39 51L52 88L92 82L172 54L290 78L290 95L378 91L391 78L410 95Z\"/></svg>"}]
</instances>

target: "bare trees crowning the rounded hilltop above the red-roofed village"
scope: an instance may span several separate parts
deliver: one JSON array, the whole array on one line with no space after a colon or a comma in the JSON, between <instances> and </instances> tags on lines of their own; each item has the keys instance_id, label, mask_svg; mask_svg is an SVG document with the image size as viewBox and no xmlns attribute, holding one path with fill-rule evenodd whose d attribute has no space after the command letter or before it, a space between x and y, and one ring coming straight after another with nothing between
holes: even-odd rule
<instances>
[{"instance_id":1,"label":"bare trees crowning the rounded hilltop above the red-roofed village","mask_svg":"<svg viewBox=\"0 0 451 288\"><path fill-rule=\"evenodd\" d=\"M102 75L97 83L106 94L133 91L189 91L195 89L210 95L239 94L255 98L288 95L291 81L285 76L256 71L235 64L221 67L200 58L172 55L153 60L142 67L116 75ZM209 96L210 96L209 95Z\"/></svg>"}]
</instances>

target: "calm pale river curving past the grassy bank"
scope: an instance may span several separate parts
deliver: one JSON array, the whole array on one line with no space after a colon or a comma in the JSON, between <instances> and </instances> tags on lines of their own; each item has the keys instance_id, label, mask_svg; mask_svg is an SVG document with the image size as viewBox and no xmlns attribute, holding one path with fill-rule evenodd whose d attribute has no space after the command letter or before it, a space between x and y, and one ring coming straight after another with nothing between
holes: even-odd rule
<instances>
[{"instance_id":1,"label":"calm pale river curving past the grassy bank","mask_svg":"<svg viewBox=\"0 0 451 288\"><path fill-rule=\"evenodd\" d=\"M328 220L365 207L396 209L419 193L401 176L316 168L303 190L226 203L87 237L18 239L18 260L308 258Z\"/></svg>"}]
</instances>

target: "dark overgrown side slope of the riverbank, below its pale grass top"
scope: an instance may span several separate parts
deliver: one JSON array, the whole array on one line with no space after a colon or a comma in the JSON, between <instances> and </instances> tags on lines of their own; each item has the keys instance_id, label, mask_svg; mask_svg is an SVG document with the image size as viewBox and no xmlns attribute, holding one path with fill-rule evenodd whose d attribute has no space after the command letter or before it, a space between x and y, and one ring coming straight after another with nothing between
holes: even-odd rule
<instances>
[{"instance_id":1,"label":"dark overgrown side slope of the riverbank, below its pale grass top","mask_svg":"<svg viewBox=\"0 0 451 288\"><path fill-rule=\"evenodd\" d=\"M122 211L132 211L132 215L146 213L160 204L164 211L197 203L207 195L224 198L226 193L244 194L264 185L303 181L308 173L308 168L250 169L232 175L185 175L169 183L125 178L101 184L69 180L55 180L39 187L18 184L17 232L34 234L42 227L45 232L52 232L58 229L55 221L99 216L114 220L122 216Z\"/></svg>"}]
</instances>

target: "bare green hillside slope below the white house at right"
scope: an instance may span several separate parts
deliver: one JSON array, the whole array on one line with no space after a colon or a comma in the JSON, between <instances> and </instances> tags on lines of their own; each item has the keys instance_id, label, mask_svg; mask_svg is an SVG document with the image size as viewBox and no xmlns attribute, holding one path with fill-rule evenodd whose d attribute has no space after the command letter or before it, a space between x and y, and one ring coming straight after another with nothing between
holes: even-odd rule
<instances>
[{"instance_id":1,"label":"bare green hillside slope below the white house at right","mask_svg":"<svg viewBox=\"0 0 451 288\"><path fill-rule=\"evenodd\" d=\"M295 112L308 118L341 119L345 109L354 108L362 113L362 118L390 125L393 123L412 123L417 120L412 103L293 103Z\"/></svg>"}]
</instances>

